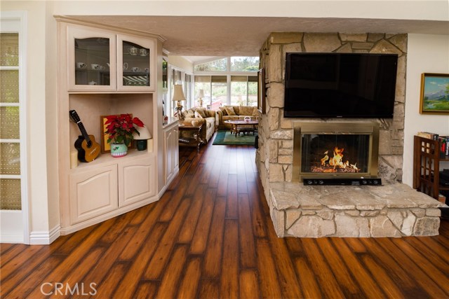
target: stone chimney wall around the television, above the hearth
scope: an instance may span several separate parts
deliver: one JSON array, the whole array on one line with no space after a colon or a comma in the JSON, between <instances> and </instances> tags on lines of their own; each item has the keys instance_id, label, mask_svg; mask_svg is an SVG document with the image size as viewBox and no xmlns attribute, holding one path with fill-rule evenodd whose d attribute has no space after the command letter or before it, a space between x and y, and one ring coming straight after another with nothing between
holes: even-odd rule
<instances>
[{"instance_id":1,"label":"stone chimney wall around the television, above the hearth","mask_svg":"<svg viewBox=\"0 0 449 299\"><path fill-rule=\"evenodd\" d=\"M380 125L379 176L384 181L402 181L403 127L406 90L406 34L272 33L260 50L265 69L266 111L260 116L259 148L256 162L265 195L270 182L292 180L293 121L283 118L286 53L391 53L398 55L396 99L392 119L351 119L375 121ZM316 118L310 121L335 121Z\"/></svg>"}]
</instances>

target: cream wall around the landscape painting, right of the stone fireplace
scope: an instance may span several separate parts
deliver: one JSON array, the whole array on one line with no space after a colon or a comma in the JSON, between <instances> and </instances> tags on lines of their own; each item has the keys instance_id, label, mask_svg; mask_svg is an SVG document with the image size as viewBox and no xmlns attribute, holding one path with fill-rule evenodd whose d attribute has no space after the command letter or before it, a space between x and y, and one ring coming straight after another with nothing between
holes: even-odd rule
<instances>
[{"instance_id":1,"label":"cream wall around the landscape painting, right of the stone fireplace","mask_svg":"<svg viewBox=\"0 0 449 299\"><path fill-rule=\"evenodd\" d=\"M449 36L408 34L403 182L409 186L413 186L413 135L418 131L449 135L449 116L420 114L422 73L449 74ZM449 168L447 163L443 166Z\"/></svg>"}]
</instances>

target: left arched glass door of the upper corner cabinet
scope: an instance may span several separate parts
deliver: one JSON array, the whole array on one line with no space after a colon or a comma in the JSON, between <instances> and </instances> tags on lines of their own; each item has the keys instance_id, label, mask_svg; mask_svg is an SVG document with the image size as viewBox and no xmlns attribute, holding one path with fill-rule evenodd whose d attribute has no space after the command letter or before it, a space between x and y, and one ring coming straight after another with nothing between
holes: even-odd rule
<instances>
[{"instance_id":1,"label":"left arched glass door of the upper corner cabinet","mask_svg":"<svg viewBox=\"0 0 449 299\"><path fill-rule=\"evenodd\" d=\"M69 90L114 90L115 35L69 28Z\"/></svg>"}]
</instances>

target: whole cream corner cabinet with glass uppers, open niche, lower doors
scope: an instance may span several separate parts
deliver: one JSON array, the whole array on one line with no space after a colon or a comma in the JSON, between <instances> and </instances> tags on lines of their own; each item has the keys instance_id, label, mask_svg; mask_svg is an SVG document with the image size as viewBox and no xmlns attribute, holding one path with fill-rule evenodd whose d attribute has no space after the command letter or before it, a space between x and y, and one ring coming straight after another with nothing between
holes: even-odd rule
<instances>
[{"instance_id":1,"label":"whole cream corner cabinet with glass uppers, open niche, lower doors","mask_svg":"<svg viewBox=\"0 0 449 299\"><path fill-rule=\"evenodd\" d=\"M86 228L159 200L158 147L129 148L113 158L102 153L93 162L70 165L80 135L69 122L74 109L88 134L101 143L100 117L132 113L147 126L157 144L158 71L163 39L141 32L115 32L67 17L58 20L58 154L61 234ZM158 46L159 45L159 46ZM160 50L161 52L161 50ZM158 63L158 60L161 60ZM162 77L162 76L161 76ZM159 79L162 81L162 78ZM159 119L158 119L159 118ZM105 141L105 139L104 139ZM173 146L173 142L172 145Z\"/></svg>"}]
</instances>

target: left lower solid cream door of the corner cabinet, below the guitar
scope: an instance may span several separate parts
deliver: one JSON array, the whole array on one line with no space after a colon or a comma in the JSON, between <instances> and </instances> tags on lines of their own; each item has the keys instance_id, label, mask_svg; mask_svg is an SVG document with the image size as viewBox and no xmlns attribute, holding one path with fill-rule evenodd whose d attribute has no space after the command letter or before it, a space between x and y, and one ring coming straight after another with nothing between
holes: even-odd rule
<instances>
[{"instance_id":1,"label":"left lower solid cream door of the corner cabinet, below the guitar","mask_svg":"<svg viewBox=\"0 0 449 299\"><path fill-rule=\"evenodd\" d=\"M116 165L70 175L70 219L78 223L118 207Z\"/></svg>"}]
</instances>

